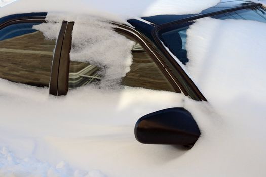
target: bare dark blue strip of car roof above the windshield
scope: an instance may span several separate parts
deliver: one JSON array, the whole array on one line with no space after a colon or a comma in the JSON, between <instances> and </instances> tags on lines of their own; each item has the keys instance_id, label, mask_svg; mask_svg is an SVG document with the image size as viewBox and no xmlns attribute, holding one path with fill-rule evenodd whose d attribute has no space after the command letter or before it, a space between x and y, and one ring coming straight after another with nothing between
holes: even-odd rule
<instances>
[{"instance_id":1,"label":"bare dark blue strip of car roof above the windshield","mask_svg":"<svg viewBox=\"0 0 266 177\"><path fill-rule=\"evenodd\" d=\"M221 0L221 2L218 3L216 6L205 9L199 14L156 15L156 16L151 16L151 17L142 17L141 19L146 20L154 25L163 25L166 23L185 19L185 18L192 17L192 16L198 16L198 15L207 14L207 13L214 13L214 12L231 9L231 8L237 8L237 7L241 7L241 6L245 6L249 4L251 5L251 4L256 4L256 3L252 1L246 1L246 0L235 0L235 1Z\"/></svg>"}]
</instances>

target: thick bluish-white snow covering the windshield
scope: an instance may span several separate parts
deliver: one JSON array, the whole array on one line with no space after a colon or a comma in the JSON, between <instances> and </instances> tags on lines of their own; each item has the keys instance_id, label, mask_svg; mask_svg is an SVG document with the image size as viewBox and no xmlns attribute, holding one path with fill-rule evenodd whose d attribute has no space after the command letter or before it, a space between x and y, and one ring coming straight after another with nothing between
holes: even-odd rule
<instances>
[{"instance_id":1,"label":"thick bluish-white snow covering the windshield","mask_svg":"<svg viewBox=\"0 0 266 177\"><path fill-rule=\"evenodd\" d=\"M266 98L265 29L256 21L205 18L187 30L189 74L207 98Z\"/></svg>"}]
</instances>

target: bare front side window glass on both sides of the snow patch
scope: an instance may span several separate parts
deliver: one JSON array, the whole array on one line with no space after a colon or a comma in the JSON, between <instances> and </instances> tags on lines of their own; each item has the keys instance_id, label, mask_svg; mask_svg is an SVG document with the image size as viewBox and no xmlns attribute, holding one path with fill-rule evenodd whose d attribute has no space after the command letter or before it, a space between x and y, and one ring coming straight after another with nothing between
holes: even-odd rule
<instances>
[{"instance_id":1,"label":"bare front side window glass on both sides of the snow patch","mask_svg":"<svg viewBox=\"0 0 266 177\"><path fill-rule=\"evenodd\" d=\"M133 61L130 71L122 78L121 85L175 92L171 83L139 43L135 42L131 53ZM90 63L70 61L69 89L99 82L101 71L101 68Z\"/></svg>"}]
</instances>

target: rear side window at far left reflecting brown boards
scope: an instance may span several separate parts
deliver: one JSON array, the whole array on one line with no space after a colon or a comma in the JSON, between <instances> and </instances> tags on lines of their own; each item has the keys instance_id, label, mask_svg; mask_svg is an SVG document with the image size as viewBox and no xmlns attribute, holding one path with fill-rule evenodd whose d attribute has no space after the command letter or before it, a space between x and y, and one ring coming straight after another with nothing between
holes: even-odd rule
<instances>
[{"instance_id":1,"label":"rear side window at far left reflecting brown boards","mask_svg":"<svg viewBox=\"0 0 266 177\"><path fill-rule=\"evenodd\" d=\"M41 23L18 23L0 29L0 78L49 86L55 40L32 29Z\"/></svg>"}]
</instances>

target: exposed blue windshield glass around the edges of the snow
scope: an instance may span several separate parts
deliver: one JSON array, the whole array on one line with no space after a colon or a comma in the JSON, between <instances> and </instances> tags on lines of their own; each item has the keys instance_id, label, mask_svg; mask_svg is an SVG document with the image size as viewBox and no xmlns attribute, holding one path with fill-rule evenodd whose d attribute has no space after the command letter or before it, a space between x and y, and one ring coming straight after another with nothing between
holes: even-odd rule
<instances>
[{"instance_id":1,"label":"exposed blue windshield glass around the edges of the snow","mask_svg":"<svg viewBox=\"0 0 266 177\"><path fill-rule=\"evenodd\" d=\"M215 19L242 19L254 20L266 23L266 9L262 6L257 6L249 9L237 10L234 12L227 12L215 16ZM159 35L164 45L177 57L177 59L186 64L189 62L186 51L186 31L194 22L187 22L175 25L171 29L163 30Z\"/></svg>"}]
</instances>

